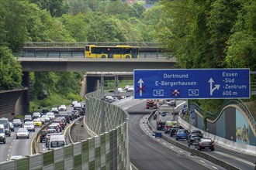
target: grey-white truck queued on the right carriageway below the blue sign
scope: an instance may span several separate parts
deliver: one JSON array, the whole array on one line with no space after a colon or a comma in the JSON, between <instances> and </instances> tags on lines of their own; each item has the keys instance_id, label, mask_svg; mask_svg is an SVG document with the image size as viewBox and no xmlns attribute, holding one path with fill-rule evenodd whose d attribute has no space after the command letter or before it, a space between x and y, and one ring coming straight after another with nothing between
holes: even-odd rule
<instances>
[{"instance_id":1,"label":"grey-white truck queued on the right carriageway below the blue sign","mask_svg":"<svg viewBox=\"0 0 256 170\"><path fill-rule=\"evenodd\" d=\"M157 130L164 130L167 121L173 121L173 114L171 112L173 108L168 104L163 104L157 107Z\"/></svg>"}]
</instances>

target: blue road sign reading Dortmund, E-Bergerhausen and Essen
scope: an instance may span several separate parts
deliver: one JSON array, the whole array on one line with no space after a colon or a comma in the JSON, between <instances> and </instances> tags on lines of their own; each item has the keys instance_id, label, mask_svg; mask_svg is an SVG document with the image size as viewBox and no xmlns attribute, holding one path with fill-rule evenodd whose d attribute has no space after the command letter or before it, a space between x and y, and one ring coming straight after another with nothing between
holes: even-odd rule
<instances>
[{"instance_id":1,"label":"blue road sign reading Dortmund, E-Bergerhausen and Essen","mask_svg":"<svg viewBox=\"0 0 256 170\"><path fill-rule=\"evenodd\" d=\"M136 99L250 98L249 69L133 70Z\"/></svg>"}]
</instances>

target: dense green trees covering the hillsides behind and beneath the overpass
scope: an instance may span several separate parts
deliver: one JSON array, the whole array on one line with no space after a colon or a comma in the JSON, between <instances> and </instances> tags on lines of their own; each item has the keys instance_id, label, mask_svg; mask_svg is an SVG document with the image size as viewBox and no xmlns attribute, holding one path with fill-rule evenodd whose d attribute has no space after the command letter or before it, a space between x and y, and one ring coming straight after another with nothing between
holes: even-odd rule
<instances>
[{"instance_id":1,"label":"dense green trees covering the hillsides behind and beneath the overpass","mask_svg":"<svg viewBox=\"0 0 256 170\"><path fill-rule=\"evenodd\" d=\"M159 42L181 68L256 70L254 0L147 0L133 5L122 0L0 2L0 90L22 86L22 70L12 53L20 52L24 42ZM146 3L154 5L144 8ZM83 75L30 73L32 105L79 98ZM211 106L221 100L196 102L214 112Z\"/></svg>"}]
</instances>

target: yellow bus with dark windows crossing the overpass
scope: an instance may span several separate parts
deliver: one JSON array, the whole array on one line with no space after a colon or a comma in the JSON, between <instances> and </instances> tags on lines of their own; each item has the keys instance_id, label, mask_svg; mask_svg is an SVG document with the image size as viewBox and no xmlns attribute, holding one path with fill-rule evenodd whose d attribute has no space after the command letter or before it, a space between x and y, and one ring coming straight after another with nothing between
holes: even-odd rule
<instances>
[{"instance_id":1,"label":"yellow bus with dark windows crossing the overpass","mask_svg":"<svg viewBox=\"0 0 256 170\"><path fill-rule=\"evenodd\" d=\"M85 58L137 59L137 46L85 46Z\"/></svg>"}]
</instances>

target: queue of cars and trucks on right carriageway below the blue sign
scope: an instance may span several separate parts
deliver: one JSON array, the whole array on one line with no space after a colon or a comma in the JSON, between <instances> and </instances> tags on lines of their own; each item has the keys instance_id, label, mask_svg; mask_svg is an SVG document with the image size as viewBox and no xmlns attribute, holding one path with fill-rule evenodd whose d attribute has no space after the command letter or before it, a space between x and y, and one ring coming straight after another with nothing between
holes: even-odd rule
<instances>
[{"instance_id":1,"label":"queue of cars and trucks on right carriageway below the blue sign","mask_svg":"<svg viewBox=\"0 0 256 170\"><path fill-rule=\"evenodd\" d=\"M150 107L148 107L150 105ZM204 138L202 131L189 131L178 124L177 116L186 113L186 107L179 112L173 112L176 107L175 100L147 100L146 108L155 108L153 127L158 133L170 134L176 141L187 141L189 147L201 150L214 151L214 141L211 138ZM157 137L157 136L156 136Z\"/></svg>"}]
</instances>

